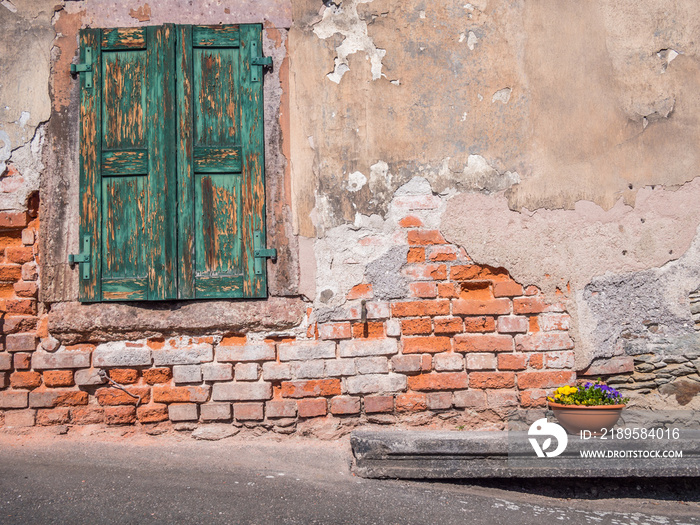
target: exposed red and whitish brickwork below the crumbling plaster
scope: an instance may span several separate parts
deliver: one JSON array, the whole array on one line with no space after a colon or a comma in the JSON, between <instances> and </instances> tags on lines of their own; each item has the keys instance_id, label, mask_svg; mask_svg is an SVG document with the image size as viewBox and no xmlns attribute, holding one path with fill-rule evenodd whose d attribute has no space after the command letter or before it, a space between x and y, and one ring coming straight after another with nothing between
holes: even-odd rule
<instances>
[{"instance_id":1,"label":"exposed red and whitish brickwork below the crumbling plaster","mask_svg":"<svg viewBox=\"0 0 700 525\"><path fill-rule=\"evenodd\" d=\"M309 321L297 337L69 346L48 334L37 307L38 219L0 220L5 426L234 422L291 433L307 421L346 428L466 421L479 428L502 424L510 407L543 406L552 388L576 379L562 305L523 289L503 269L473 264L418 217L400 221L410 290L401 300L374 300L371 283L357 285L344 313Z\"/></svg>"}]
</instances>

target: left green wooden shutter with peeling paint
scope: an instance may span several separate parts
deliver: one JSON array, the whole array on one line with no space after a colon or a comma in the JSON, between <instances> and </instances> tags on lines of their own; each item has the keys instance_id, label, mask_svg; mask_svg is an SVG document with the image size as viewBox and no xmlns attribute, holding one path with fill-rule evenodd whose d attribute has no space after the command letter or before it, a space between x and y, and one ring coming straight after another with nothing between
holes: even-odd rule
<instances>
[{"instance_id":1,"label":"left green wooden shutter with peeling paint","mask_svg":"<svg viewBox=\"0 0 700 525\"><path fill-rule=\"evenodd\" d=\"M83 301L176 297L173 26L81 31Z\"/></svg>"}]
</instances>

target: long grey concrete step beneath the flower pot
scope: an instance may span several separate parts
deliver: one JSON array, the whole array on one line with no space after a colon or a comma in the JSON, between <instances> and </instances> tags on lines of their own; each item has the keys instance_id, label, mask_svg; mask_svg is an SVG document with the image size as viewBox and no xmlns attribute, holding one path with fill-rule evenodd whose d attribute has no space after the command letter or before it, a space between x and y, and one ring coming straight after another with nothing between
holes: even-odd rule
<instances>
[{"instance_id":1,"label":"long grey concrete step beneath the flower pot","mask_svg":"<svg viewBox=\"0 0 700 525\"><path fill-rule=\"evenodd\" d=\"M699 430L681 432L676 440L634 443L568 436L556 457L538 457L532 437L505 431L357 430L351 436L354 471L366 478L401 479L700 476ZM538 441L542 447L544 439ZM545 445L545 452L555 445ZM650 457L655 451L680 451L682 457Z\"/></svg>"}]
</instances>

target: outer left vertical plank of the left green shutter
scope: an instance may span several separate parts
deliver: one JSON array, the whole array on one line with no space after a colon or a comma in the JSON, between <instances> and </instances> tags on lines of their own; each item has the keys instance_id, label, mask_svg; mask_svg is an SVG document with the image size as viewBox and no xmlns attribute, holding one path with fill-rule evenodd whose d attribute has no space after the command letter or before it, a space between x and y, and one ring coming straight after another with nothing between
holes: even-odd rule
<instances>
[{"instance_id":1,"label":"outer left vertical plank of the left green shutter","mask_svg":"<svg viewBox=\"0 0 700 525\"><path fill-rule=\"evenodd\" d=\"M85 76L80 80L80 235L92 240L90 253L90 278L79 279L79 297L81 301L97 301L102 297L100 289L101 246L100 235L100 152L101 137L101 99L102 60L100 53L100 30L83 29L80 31L80 59L85 60L85 49L92 49L93 87L85 87ZM80 243L82 246L82 242ZM81 272L82 273L82 272Z\"/></svg>"}]
</instances>

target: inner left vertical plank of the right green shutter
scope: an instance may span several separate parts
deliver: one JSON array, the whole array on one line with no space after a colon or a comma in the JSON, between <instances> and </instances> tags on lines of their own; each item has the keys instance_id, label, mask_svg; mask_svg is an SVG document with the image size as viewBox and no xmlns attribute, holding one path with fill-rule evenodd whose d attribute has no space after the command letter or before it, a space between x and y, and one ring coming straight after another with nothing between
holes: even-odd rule
<instances>
[{"instance_id":1,"label":"inner left vertical plank of the right green shutter","mask_svg":"<svg viewBox=\"0 0 700 525\"><path fill-rule=\"evenodd\" d=\"M192 169L192 27L179 26L177 34L177 198L178 297L195 297L194 277L194 181Z\"/></svg>"}]
</instances>

